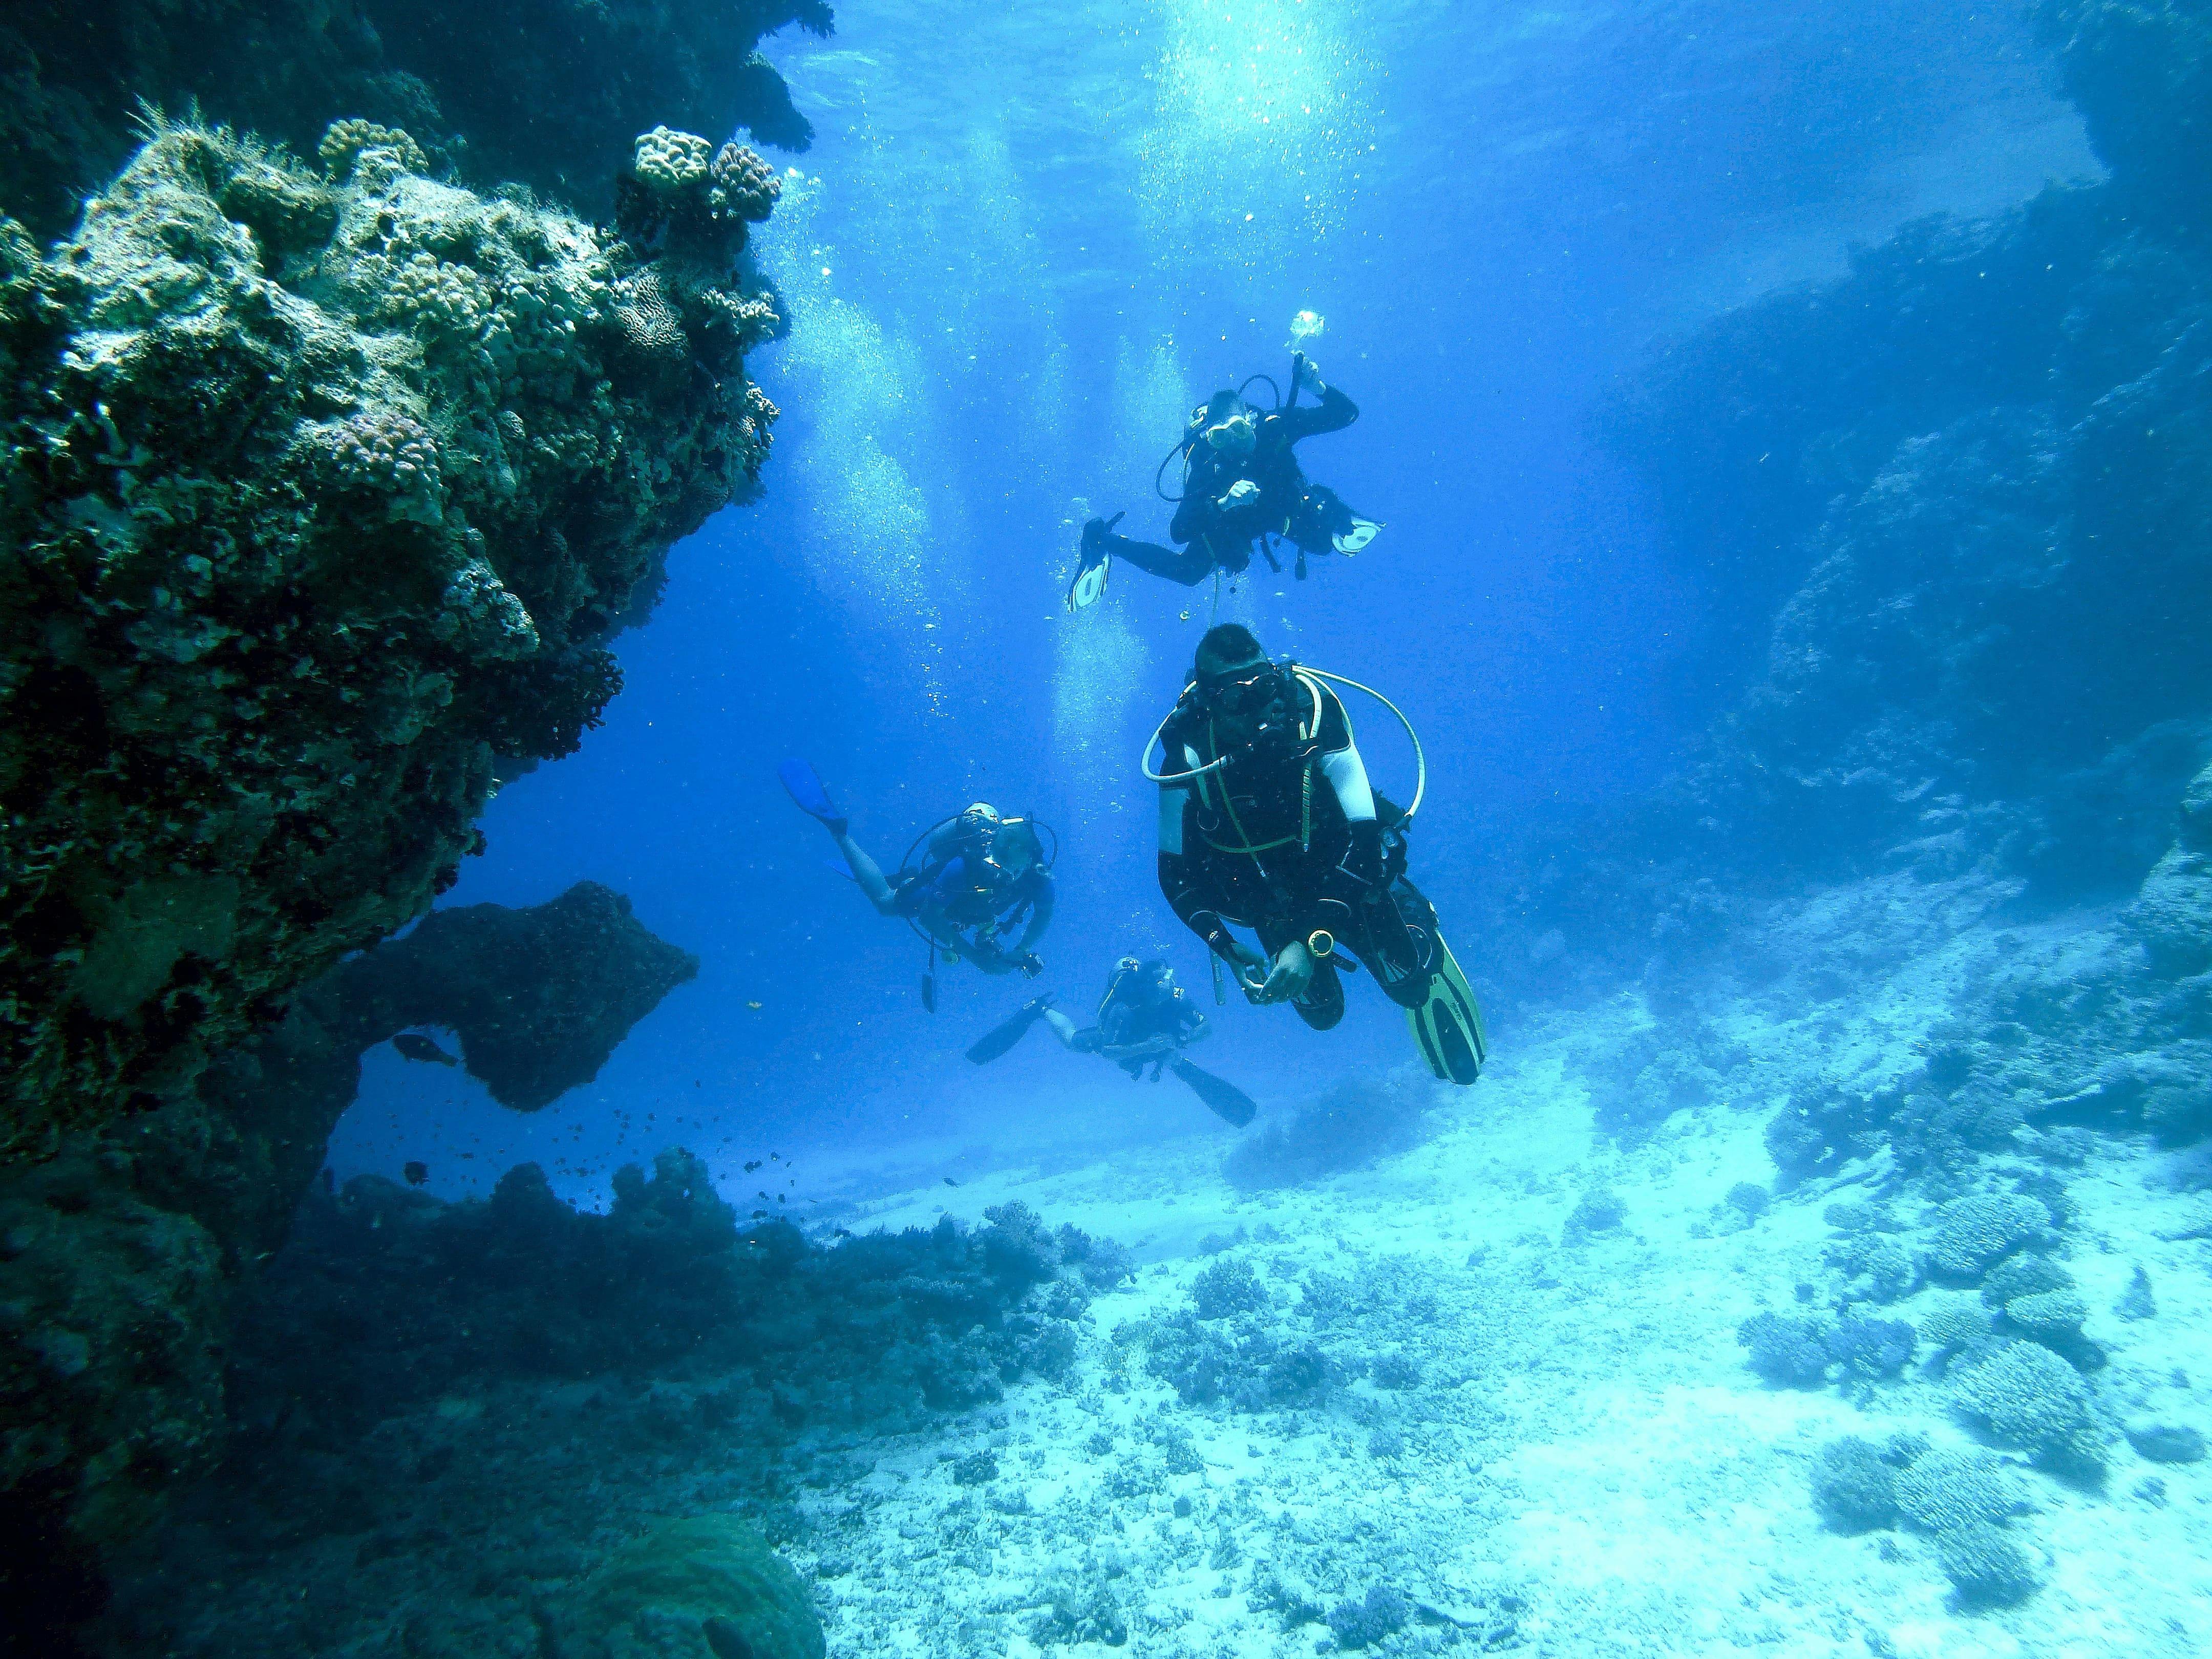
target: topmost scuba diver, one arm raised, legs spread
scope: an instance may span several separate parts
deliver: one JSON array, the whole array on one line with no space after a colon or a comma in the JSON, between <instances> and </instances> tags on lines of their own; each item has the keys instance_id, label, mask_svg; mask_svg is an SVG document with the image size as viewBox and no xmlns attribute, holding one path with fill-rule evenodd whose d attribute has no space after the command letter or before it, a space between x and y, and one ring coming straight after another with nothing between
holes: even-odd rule
<instances>
[{"instance_id":1,"label":"topmost scuba diver, one arm raised, legs spread","mask_svg":"<svg viewBox=\"0 0 2212 1659\"><path fill-rule=\"evenodd\" d=\"M1254 374L1252 380L1274 385L1265 374ZM1312 392L1321 403L1298 407L1298 392ZM1345 507L1334 489L1307 482L1292 451L1301 438L1343 431L1358 418L1358 405L1325 385L1321 369L1303 352L1290 365L1290 400L1279 394L1272 409L1245 403L1243 387L1217 392L1190 411L1181 442L1159 462L1166 471L1177 456L1183 460L1183 493L1159 491L1161 500L1177 502L1168 524L1175 546L1117 535L1113 526L1121 522L1121 513L1110 520L1093 518L1084 524L1068 606L1082 611L1097 599L1117 557L1192 588L1214 571L1245 571L1254 542L1267 568L1281 573L1274 538L1298 549L1301 582L1307 553L1358 553L1383 526ZM1159 489L1157 473L1152 487Z\"/></svg>"}]
</instances>

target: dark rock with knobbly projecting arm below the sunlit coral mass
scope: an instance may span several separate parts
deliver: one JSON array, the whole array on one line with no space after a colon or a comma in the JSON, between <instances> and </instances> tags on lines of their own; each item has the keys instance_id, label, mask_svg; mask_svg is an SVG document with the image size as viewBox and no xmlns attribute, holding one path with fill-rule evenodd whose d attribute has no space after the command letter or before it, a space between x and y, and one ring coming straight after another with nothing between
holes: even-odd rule
<instances>
[{"instance_id":1,"label":"dark rock with knobbly projecting arm below the sunlit coral mass","mask_svg":"<svg viewBox=\"0 0 2212 1659\"><path fill-rule=\"evenodd\" d=\"M22 1628L60 1639L97 1604L97 1548L221 1453L237 1287L283 1245L372 1044L453 1029L531 1110L697 967L593 883L440 911L307 987L195 1091L0 1175L0 1520L27 1540L0 1590Z\"/></svg>"}]
</instances>

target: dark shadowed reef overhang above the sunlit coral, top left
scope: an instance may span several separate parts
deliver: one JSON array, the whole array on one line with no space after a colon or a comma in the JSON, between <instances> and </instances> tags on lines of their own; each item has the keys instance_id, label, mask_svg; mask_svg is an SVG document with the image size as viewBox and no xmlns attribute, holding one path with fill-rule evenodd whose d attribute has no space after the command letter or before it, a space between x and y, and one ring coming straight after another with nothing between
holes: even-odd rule
<instances>
[{"instance_id":1,"label":"dark shadowed reef overhang above the sunlit coral, top left","mask_svg":"<svg viewBox=\"0 0 2212 1659\"><path fill-rule=\"evenodd\" d=\"M197 106L307 153L361 115L403 126L478 184L604 212L655 122L812 142L754 51L823 0L22 0L0 15L0 212L60 234L135 148L142 102Z\"/></svg>"}]
</instances>

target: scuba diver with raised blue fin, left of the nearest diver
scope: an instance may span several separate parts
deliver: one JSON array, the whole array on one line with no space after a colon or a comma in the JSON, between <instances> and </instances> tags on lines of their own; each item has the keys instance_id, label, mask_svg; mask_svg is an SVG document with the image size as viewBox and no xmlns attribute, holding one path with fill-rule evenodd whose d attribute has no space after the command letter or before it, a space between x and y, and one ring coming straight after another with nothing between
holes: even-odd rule
<instances>
[{"instance_id":1,"label":"scuba diver with raised blue fin, left of the nearest diver","mask_svg":"<svg viewBox=\"0 0 2212 1659\"><path fill-rule=\"evenodd\" d=\"M938 1011L938 958L967 958L984 973L1024 973L1037 978L1044 962L1035 942L1053 925L1053 858L1044 852L1048 825L1037 818L1009 818L987 801L964 812L938 818L900 858L889 876L883 865L852 838L843 812L805 761L776 768L783 787L799 810L816 818L836 843L854 883L880 916L900 916L907 927L929 940L929 967L922 971L922 1006ZM1057 854L1057 836L1053 838ZM1009 949L1000 940L1015 927L1020 938Z\"/></svg>"}]
</instances>

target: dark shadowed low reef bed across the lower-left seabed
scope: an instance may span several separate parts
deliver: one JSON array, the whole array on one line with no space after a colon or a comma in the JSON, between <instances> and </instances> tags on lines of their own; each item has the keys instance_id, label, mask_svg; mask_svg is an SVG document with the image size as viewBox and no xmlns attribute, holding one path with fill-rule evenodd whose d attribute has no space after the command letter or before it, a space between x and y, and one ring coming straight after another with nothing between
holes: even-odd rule
<instances>
[{"instance_id":1,"label":"dark shadowed low reef bed across the lower-left seabed","mask_svg":"<svg viewBox=\"0 0 2212 1659\"><path fill-rule=\"evenodd\" d=\"M812 1232L684 1150L606 1214L531 1164L460 1203L314 1188L241 1307L228 1460L126 1557L95 1648L818 1655L748 1524L834 1535L807 1511L872 1447L1068 1378L1121 1265L1020 1203Z\"/></svg>"}]
</instances>

